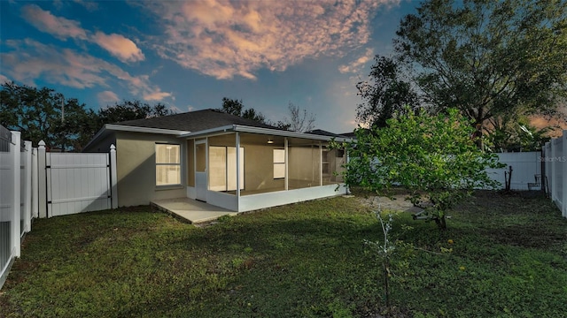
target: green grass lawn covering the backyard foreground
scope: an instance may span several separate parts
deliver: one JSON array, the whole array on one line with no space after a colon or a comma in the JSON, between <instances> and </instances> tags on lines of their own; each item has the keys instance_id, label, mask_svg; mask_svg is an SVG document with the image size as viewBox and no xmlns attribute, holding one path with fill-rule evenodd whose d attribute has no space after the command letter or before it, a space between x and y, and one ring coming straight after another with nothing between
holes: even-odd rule
<instances>
[{"instance_id":1,"label":"green grass lawn covering the backyard foreground","mask_svg":"<svg viewBox=\"0 0 567 318\"><path fill-rule=\"evenodd\" d=\"M380 225L353 198L205 228L147 207L35 220L0 291L0 316L567 313L567 220L553 203L483 192L449 215L447 231L394 216L390 308L380 260L363 244L383 238Z\"/></svg>"}]
</instances>

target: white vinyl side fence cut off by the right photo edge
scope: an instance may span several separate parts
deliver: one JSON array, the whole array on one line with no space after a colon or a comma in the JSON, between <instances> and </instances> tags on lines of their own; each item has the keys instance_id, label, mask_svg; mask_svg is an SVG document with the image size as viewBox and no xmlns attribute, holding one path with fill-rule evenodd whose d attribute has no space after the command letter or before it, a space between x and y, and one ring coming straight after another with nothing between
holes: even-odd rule
<instances>
[{"instance_id":1,"label":"white vinyl side fence cut off by the right photo edge","mask_svg":"<svg viewBox=\"0 0 567 318\"><path fill-rule=\"evenodd\" d=\"M546 142L541 161L545 164L545 175L551 200L561 214L567 217L567 130L563 135Z\"/></svg>"}]
</instances>

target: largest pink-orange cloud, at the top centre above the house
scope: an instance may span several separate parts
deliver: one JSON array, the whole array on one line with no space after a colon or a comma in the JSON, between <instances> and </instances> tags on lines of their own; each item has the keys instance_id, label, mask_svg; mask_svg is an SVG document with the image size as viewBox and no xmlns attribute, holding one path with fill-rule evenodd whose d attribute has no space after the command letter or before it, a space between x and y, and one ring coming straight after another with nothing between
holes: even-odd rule
<instances>
[{"instance_id":1,"label":"largest pink-orange cloud, at the top centre above the house","mask_svg":"<svg viewBox=\"0 0 567 318\"><path fill-rule=\"evenodd\" d=\"M260 68L283 71L307 57L344 57L369 42L381 1L145 2L165 34L161 57L217 79L255 79Z\"/></svg>"}]
</instances>

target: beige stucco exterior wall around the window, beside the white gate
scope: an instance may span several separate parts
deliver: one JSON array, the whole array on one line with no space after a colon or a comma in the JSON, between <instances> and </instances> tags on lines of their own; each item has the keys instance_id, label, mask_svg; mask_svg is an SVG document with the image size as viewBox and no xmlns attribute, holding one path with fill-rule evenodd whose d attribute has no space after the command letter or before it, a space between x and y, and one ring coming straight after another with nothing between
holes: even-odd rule
<instances>
[{"instance_id":1,"label":"beige stucco exterior wall around the window, beside the white gate","mask_svg":"<svg viewBox=\"0 0 567 318\"><path fill-rule=\"evenodd\" d=\"M157 142L181 145L181 186L156 186L155 144ZM151 200L185 197L186 145L185 140L173 136L117 132L118 205L120 207L145 205Z\"/></svg>"}]
</instances>

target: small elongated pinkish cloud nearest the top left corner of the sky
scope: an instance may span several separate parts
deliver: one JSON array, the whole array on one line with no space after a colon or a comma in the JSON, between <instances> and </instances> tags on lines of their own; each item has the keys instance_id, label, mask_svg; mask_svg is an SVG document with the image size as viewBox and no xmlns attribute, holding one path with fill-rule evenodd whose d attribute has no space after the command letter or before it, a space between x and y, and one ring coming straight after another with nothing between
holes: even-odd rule
<instances>
[{"instance_id":1,"label":"small elongated pinkish cloud nearest the top left corner of the sky","mask_svg":"<svg viewBox=\"0 0 567 318\"><path fill-rule=\"evenodd\" d=\"M23 18L38 30L53 36L66 40L87 39L86 31L77 21L56 17L50 11L43 11L42 8L35 4L28 4L22 8Z\"/></svg>"}]
</instances>

